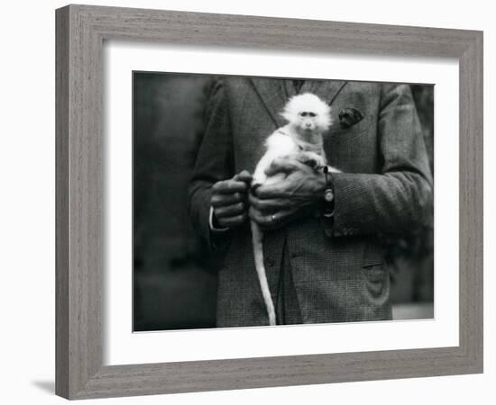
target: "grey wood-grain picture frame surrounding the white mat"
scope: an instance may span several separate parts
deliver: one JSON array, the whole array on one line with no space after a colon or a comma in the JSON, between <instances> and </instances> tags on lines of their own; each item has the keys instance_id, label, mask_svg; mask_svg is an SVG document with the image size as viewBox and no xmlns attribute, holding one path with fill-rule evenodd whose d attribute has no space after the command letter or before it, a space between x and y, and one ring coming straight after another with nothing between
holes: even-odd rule
<instances>
[{"instance_id":1,"label":"grey wood-grain picture frame surrounding the white mat","mask_svg":"<svg viewBox=\"0 0 496 405\"><path fill-rule=\"evenodd\" d=\"M84 399L482 373L481 31L87 5L57 10L56 28L57 394ZM102 47L107 39L458 58L459 346L103 366Z\"/></svg>"}]
</instances>

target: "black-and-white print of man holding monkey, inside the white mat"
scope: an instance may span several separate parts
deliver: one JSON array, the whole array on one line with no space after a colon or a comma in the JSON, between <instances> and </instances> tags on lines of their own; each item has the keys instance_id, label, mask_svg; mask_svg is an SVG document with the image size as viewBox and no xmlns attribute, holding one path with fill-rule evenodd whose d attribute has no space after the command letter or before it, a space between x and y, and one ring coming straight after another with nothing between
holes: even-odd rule
<instances>
[{"instance_id":1,"label":"black-and-white print of man holding monkey, inside the white mat","mask_svg":"<svg viewBox=\"0 0 496 405\"><path fill-rule=\"evenodd\" d=\"M133 71L133 331L433 319L434 94Z\"/></svg>"}]
</instances>

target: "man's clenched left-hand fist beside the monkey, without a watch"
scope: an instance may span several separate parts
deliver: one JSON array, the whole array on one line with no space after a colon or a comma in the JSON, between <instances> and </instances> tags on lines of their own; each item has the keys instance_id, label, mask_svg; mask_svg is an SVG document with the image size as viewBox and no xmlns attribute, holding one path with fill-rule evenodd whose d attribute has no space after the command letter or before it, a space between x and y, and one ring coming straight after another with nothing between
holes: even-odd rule
<instances>
[{"instance_id":1,"label":"man's clenched left-hand fist beside the monkey, without a watch","mask_svg":"<svg viewBox=\"0 0 496 405\"><path fill-rule=\"evenodd\" d=\"M252 175L243 170L231 179L214 184L210 204L216 228L233 228L246 220L246 198L251 182Z\"/></svg>"}]
</instances>

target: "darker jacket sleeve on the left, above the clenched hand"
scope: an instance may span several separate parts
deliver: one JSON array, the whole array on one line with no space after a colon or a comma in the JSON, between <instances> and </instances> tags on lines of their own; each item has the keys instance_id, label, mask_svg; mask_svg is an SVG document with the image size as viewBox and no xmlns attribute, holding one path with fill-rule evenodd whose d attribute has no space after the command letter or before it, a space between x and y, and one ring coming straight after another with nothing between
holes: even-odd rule
<instances>
[{"instance_id":1,"label":"darker jacket sleeve on the left, above the clenched hand","mask_svg":"<svg viewBox=\"0 0 496 405\"><path fill-rule=\"evenodd\" d=\"M204 133L188 186L188 209L193 226L211 248L224 236L213 235L209 227L212 186L234 175L231 122L222 79L209 89L204 115ZM225 232L222 232L225 234ZM227 232L229 233L229 232Z\"/></svg>"}]
</instances>

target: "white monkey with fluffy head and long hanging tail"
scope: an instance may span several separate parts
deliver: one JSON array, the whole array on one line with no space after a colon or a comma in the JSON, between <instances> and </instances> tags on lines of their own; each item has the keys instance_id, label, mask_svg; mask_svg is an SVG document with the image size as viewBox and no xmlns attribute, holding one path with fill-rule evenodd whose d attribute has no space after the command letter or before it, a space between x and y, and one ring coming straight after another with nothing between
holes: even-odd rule
<instances>
[{"instance_id":1,"label":"white monkey with fluffy head and long hanging tail","mask_svg":"<svg viewBox=\"0 0 496 405\"><path fill-rule=\"evenodd\" d=\"M259 185L275 184L286 177L284 173L270 177L265 174L265 170L271 166L275 158L294 157L314 168L327 164L322 134L331 126L331 107L317 95L305 93L291 97L281 115L288 124L275 130L265 141L266 152L253 174L253 191ZM329 167L328 170L339 172L334 167ZM263 264L263 230L253 220L252 237L255 267L269 315L269 325L275 325L274 303Z\"/></svg>"}]
</instances>

